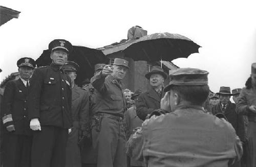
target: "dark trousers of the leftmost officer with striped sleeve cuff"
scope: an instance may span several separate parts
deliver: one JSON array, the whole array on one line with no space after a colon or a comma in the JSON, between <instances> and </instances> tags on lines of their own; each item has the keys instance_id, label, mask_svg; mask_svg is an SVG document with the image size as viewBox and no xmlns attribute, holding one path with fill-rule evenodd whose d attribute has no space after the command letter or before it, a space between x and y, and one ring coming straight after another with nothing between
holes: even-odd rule
<instances>
[{"instance_id":1,"label":"dark trousers of the leftmost officer with striped sleeve cuff","mask_svg":"<svg viewBox=\"0 0 256 167\"><path fill-rule=\"evenodd\" d=\"M3 167L31 166L32 136L6 133L3 136Z\"/></svg>"}]
</instances>

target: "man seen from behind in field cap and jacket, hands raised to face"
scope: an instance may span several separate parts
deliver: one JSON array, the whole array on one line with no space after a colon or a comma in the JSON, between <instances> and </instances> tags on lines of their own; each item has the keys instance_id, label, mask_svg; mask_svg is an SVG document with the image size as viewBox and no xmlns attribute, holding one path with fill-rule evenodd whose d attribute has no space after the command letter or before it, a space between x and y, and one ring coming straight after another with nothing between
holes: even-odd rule
<instances>
[{"instance_id":1,"label":"man seen from behind in field cap and jacket, hands raised to face","mask_svg":"<svg viewBox=\"0 0 256 167\"><path fill-rule=\"evenodd\" d=\"M147 166L227 166L239 159L242 147L234 129L203 109L207 75L195 68L170 74L161 109L172 112L144 121L127 142L127 153Z\"/></svg>"}]
</instances>

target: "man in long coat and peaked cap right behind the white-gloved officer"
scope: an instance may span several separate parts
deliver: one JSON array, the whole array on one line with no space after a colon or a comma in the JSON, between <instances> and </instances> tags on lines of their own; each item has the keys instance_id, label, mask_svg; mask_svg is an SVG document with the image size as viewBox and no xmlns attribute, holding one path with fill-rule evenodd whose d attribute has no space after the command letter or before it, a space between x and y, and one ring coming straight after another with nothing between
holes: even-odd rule
<instances>
[{"instance_id":1,"label":"man in long coat and peaked cap right behind the white-gloved officer","mask_svg":"<svg viewBox=\"0 0 256 167\"><path fill-rule=\"evenodd\" d=\"M90 138L89 127L89 96L90 93L75 84L76 71L79 65L68 61L61 67L71 79L72 87L72 117L73 127L69 129L69 139L66 147L66 166L81 167L81 152L78 147L79 134Z\"/></svg>"}]
</instances>

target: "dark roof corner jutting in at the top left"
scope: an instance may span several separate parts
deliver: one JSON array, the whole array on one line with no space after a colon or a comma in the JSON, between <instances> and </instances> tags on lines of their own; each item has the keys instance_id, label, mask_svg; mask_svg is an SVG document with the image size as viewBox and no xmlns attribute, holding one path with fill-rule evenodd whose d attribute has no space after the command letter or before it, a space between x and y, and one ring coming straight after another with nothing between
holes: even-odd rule
<instances>
[{"instance_id":1,"label":"dark roof corner jutting in at the top left","mask_svg":"<svg viewBox=\"0 0 256 167\"><path fill-rule=\"evenodd\" d=\"M19 13L19 11L0 6L0 26L13 18L18 18Z\"/></svg>"}]
</instances>

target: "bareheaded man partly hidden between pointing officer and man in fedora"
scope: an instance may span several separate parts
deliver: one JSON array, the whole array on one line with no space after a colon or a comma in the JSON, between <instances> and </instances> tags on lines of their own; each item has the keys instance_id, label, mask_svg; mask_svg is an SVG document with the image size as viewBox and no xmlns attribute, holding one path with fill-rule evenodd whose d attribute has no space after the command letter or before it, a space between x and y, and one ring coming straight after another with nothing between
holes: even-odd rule
<instances>
[{"instance_id":1,"label":"bareheaded man partly hidden between pointing officer and man in fedora","mask_svg":"<svg viewBox=\"0 0 256 167\"><path fill-rule=\"evenodd\" d=\"M133 96L131 97L132 100L134 100L134 105L127 109L125 112L125 122L126 122L126 137L129 138L131 134L133 133L133 130L137 127L141 127L143 121L140 120L140 118L136 114L136 105L138 103L138 97L142 93L140 89L137 89ZM130 157L128 157L130 159ZM134 158L130 159L131 166L145 166L143 162L137 161Z\"/></svg>"}]
</instances>

